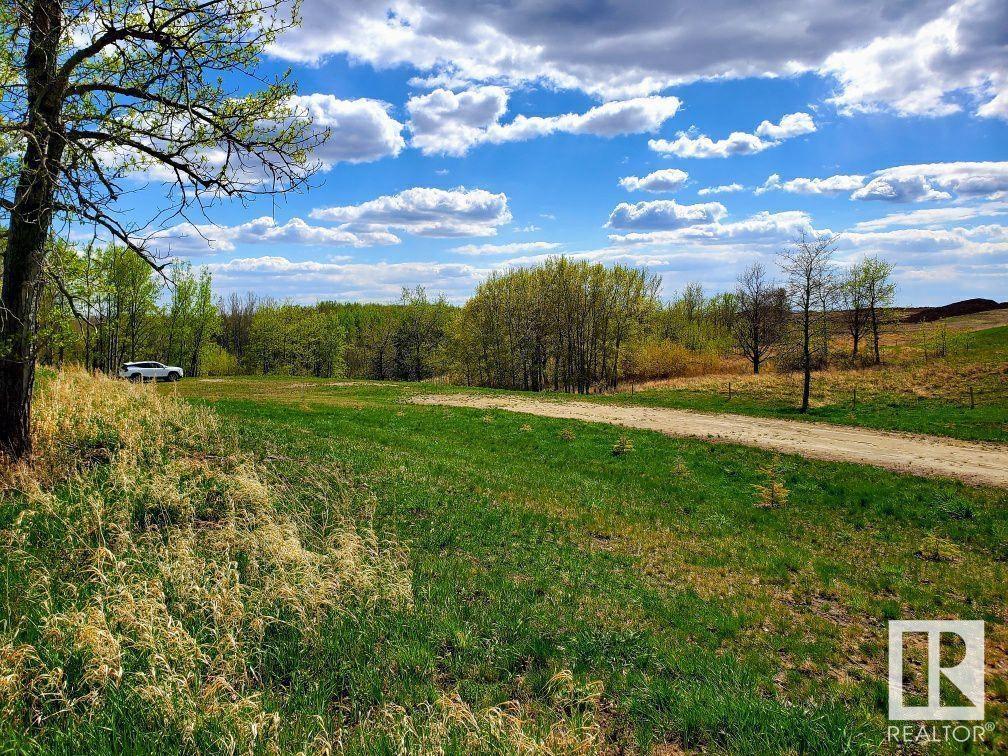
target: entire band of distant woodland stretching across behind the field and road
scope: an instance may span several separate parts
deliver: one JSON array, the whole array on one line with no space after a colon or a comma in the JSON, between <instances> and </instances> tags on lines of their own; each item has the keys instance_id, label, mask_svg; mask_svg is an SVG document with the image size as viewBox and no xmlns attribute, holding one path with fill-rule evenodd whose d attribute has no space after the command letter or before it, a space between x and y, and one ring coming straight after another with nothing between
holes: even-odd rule
<instances>
[{"instance_id":1,"label":"entire band of distant woodland stretching across behind the field and road","mask_svg":"<svg viewBox=\"0 0 1008 756\"><path fill-rule=\"evenodd\" d=\"M888 286L869 306L864 280L882 266ZM215 298L207 270L174 264L159 275L121 247L59 245L38 313L39 359L115 372L159 360L199 375L303 375L588 393L621 382L801 362L795 296L754 266L734 291L686 284L670 300L646 270L566 258L491 275L462 306L403 289L396 303L297 304L253 292ZM806 300L807 360L869 361L859 345L881 328L891 269L868 258L816 280ZM755 278L754 278L755 276ZM170 284L169 282L170 281ZM794 281L791 281L793 284ZM876 286L878 288L878 286ZM806 298L807 299L807 298ZM800 309L800 307L798 307ZM831 356L831 335L851 348ZM860 350L860 351L859 351Z\"/></svg>"}]
</instances>

